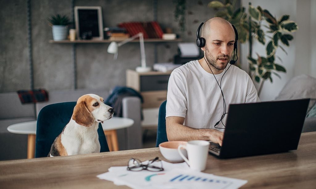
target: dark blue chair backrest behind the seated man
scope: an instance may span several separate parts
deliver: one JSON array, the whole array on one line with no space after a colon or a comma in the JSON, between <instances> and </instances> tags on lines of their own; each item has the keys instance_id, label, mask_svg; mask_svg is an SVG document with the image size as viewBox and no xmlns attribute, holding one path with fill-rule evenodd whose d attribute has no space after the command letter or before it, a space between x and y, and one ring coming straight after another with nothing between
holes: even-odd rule
<instances>
[{"instance_id":1,"label":"dark blue chair backrest behind the seated man","mask_svg":"<svg viewBox=\"0 0 316 189\"><path fill-rule=\"evenodd\" d=\"M168 141L166 131L166 104L167 100L159 107L156 147L159 147L160 143Z\"/></svg>"}]
</instances>

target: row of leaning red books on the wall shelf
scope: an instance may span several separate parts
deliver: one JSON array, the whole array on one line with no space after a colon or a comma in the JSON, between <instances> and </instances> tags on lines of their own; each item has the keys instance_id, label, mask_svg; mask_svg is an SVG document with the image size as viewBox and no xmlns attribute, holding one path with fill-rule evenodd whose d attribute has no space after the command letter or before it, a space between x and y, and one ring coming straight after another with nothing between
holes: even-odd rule
<instances>
[{"instance_id":1,"label":"row of leaning red books on the wall shelf","mask_svg":"<svg viewBox=\"0 0 316 189\"><path fill-rule=\"evenodd\" d=\"M158 22L123 22L118 25L125 28L126 31L134 36L139 32L143 33L144 39L148 38L162 38L163 31Z\"/></svg>"}]
</instances>

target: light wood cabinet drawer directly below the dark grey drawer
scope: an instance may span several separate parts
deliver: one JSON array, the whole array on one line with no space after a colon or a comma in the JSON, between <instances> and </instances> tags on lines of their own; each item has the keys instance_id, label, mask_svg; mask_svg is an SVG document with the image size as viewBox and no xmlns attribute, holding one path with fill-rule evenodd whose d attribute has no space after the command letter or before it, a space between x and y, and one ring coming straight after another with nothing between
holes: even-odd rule
<instances>
[{"instance_id":1,"label":"light wood cabinet drawer directly below the dark grey drawer","mask_svg":"<svg viewBox=\"0 0 316 189\"><path fill-rule=\"evenodd\" d=\"M141 92L143 96L143 108L160 107L161 103L167 100L167 90Z\"/></svg>"}]
</instances>

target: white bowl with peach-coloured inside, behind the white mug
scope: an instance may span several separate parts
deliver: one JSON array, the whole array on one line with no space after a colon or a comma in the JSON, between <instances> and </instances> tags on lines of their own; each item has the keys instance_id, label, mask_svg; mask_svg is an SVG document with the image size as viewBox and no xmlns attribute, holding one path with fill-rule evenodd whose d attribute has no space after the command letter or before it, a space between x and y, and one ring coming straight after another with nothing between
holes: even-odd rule
<instances>
[{"instance_id":1,"label":"white bowl with peach-coloured inside, behind the white mug","mask_svg":"<svg viewBox=\"0 0 316 189\"><path fill-rule=\"evenodd\" d=\"M163 157L172 162L184 162L182 157L178 152L179 145L185 145L186 141L168 141L159 144L159 149ZM187 152L185 149L181 149L183 155L188 158Z\"/></svg>"}]
</instances>

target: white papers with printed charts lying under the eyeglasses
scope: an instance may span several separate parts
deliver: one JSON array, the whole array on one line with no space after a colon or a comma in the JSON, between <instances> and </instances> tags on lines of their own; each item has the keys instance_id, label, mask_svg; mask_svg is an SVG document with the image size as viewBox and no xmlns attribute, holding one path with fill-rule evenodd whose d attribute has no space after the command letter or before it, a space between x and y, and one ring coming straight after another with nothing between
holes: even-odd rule
<instances>
[{"instance_id":1,"label":"white papers with printed charts lying under the eyeglasses","mask_svg":"<svg viewBox=\"0 0 316 189\"><path fill-rule=\"evenodd\" d=\"M131 188L239 188L246 180L232 179L212 174L191 171L186 163L163 161L164 171L128 171L126 166L111 167L109 172L97 175L100 179L113 181L116 185Z\"/></svg>"}]
</instances>

